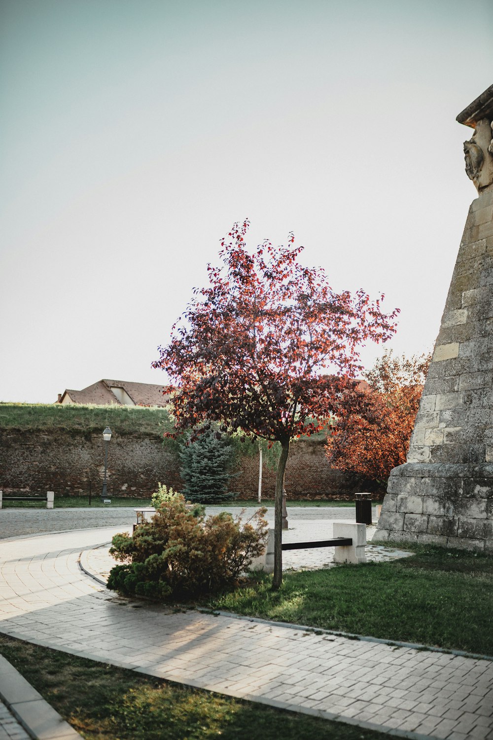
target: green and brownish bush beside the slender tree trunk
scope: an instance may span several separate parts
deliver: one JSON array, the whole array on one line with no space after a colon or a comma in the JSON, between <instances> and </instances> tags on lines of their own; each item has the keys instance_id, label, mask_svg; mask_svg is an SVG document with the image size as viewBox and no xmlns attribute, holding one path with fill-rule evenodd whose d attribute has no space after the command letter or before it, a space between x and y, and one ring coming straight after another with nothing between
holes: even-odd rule
<instances>
[{"instance_id":1,"label":"green and brownish bush beside the slender tree trunk","mask_svg":"<svg viewBox=\"0 0 493 740\"><path fill-rule=\"evenodd\" d=\"M113 537L109 552L122 565L112 568L108 588L153 599L232 588L264 551L266 511L258 509L245 523L225 511L205 518L203 510L188 511L183 496L173 497L135 534Z\"/></svg>"}]
</instances>

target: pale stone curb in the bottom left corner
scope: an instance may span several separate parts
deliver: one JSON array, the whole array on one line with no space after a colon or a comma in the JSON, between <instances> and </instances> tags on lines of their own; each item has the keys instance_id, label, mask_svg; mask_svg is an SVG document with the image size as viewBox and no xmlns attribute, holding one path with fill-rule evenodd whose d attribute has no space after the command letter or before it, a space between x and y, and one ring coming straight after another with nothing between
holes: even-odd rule
<instances>
[{"instance_id":1,"label":"pale stone curb in the bottom left corner","mask_svg":"<svg viewBox=\"0 0 493 740\"><path fill-rule=\"evenodd\" d=\"M82 737L4 656L0 656L0 699L34 740L76 740Z\"/></svg>"}]
</instances>

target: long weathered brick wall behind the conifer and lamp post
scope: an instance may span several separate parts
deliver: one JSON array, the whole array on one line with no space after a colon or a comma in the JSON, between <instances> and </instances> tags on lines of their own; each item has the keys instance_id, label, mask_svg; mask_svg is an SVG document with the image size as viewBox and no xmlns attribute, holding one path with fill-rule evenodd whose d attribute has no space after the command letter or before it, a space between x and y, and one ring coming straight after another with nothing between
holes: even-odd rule
<instances>
[{"instance_id":1,"label":"long weathered brick wall behind the conifer and lamp post","mask_svg":"<svg viewBox=\"0 0 493 740\"><path fill-rule=\"evenodd\" d=\"M63 431L0 430L0 490L55 495L101 493L104 446L101 434ZM157 482L180 490L179 462L155 437L118 436L109 443L108 491L113 496L147 497ZM242 458L239 475L231 490L239 498L255 498L258 489L259 458ZM275 473L264 465L262 495L273 498ZM350 499L354 491L365 490L352 476L333 471L324 457L323 441L293 443L286 468L288 498Z\"/></svg>"}]
</instances>

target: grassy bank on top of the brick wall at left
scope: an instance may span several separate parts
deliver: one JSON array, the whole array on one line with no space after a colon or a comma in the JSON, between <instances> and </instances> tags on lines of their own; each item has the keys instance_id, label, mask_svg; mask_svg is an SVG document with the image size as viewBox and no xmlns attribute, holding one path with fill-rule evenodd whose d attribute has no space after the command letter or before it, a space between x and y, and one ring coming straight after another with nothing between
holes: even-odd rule
<instances>
[{"instance_id":1,"label":"grassy bank on top of the brick wall at left","mask_svg":"<svg viewBox=\"0 0 493 740\"><path fill-rule=\"evenodd\" d=\"M79 406L60 403L0 403L0 428L16 431L102 434L109 426L118 434L163 437L172 423L166 408L146 406Z\"/></svg>"}]
</instances>

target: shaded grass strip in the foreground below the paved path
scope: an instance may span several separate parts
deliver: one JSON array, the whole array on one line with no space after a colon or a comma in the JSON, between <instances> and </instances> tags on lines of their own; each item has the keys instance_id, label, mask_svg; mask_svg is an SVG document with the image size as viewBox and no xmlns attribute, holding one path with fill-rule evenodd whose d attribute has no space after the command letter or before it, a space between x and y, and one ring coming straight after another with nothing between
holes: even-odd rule
<instances>
[{"instance_id":1,"label":"shaded grass strip in the foreground below the paved path","mask_svg":"<svg viewBox=\"0 0 493 740\"><path fill-rule=\"evenodd\" d=\"M385 740L0 635L0 653L86 740Z\"/></svg>"}]
</instances>

